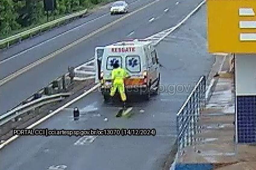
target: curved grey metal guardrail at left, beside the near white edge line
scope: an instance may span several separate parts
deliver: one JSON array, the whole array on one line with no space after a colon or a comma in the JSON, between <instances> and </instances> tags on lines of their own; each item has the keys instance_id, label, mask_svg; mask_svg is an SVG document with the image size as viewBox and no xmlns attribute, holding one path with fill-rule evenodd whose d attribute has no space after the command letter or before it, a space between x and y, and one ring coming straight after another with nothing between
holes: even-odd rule
<instances>
[{"instance_id":1,"label":"curved grey metal guardrail at left, beside the near white edge line","mask_svg":"<svg viewBox=\"0 0 256 170\"><path fill-rule=\"evenodd\" d=\"M18 106L17 108L14 108L13 110L11 110L11 111L9 111L9 112L0 116L0 126L7 123L11 119L13 119L14 117L11 117L11 116L14 115L14 114L18 114L19 112L21 112L25 109L27 109L27 110L29 110L29 108L32 109L33 106L35 106L35 105L40 106L42 104L47 104L48 103L47 101L55 101L53 99L66 97L66 96L70 96L70 93L58 93L58 94L54 94L54 95L51 95L51 96L44 96L44 97L41 97L39 99L32 100L31 102L28 102L24 105ZM18 116L18 115L15 115L15 117L16 116Z\"/></svg>"}]
</instances>

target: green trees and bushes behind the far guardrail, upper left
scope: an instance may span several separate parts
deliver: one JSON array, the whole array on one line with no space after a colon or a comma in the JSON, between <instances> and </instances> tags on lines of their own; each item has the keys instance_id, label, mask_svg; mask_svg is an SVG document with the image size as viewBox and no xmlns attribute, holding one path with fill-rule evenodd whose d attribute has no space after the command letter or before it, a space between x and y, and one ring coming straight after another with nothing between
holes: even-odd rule
<instances>
[{"instance_id":1,"label":"green trees and bushes behind the far guardrail, upper left","mask_svg":"<svg viewBox=\"0 0 256 170\"><path fill-rule=\"evenodd\" d=\"M56 9L49 11L48 21L111 0L56 0ZM43 0L0 0L0 39L47 22Z\"/></svg>"}]
</instances>

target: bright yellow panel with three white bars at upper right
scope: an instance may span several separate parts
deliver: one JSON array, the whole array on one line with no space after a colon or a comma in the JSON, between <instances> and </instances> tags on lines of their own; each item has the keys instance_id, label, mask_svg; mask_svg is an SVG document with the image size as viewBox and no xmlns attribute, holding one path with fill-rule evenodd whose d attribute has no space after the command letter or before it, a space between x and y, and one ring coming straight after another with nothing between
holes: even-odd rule
<instances>
[{"instance_id":1,"label":"bright yellow panel with three white bars at upper right","mask_svg":"<svg viewBox=\"0 0 256 170\"><path fill-rule=\"evenodd\" d=\"M208 52L256 53L256 0L207 0Z\"/></svg>"}]
</instances>

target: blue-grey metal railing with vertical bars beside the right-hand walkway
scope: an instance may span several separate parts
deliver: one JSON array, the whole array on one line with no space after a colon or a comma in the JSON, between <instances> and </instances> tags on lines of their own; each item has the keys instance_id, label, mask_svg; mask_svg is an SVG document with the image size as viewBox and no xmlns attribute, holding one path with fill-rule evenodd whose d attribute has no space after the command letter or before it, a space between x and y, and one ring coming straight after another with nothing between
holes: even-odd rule
<instances>
[{"instance_id":1,"label":"blue-grey metal railing with vertical bars beside the right-hand walkway","mask_svg":"<svg viewBox=\"0 0 256 170\"><path fill-rule=\"evenodd\" d=\"M203 75L176 114L178 152L195 141L200 110L205 108L206 77Z\"/></svg>"}]
</instances>

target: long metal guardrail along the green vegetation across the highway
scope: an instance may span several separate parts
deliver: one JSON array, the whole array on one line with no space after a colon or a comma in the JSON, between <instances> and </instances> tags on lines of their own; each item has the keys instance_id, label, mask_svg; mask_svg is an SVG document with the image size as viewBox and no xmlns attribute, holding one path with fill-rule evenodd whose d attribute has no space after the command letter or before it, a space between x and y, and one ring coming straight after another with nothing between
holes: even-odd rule
<instances>
[{"instance_id":1,"label":"long metal guardrail along the green vegetation across the highway","mask_svg":"<svg viewBox=\"0 0 256 170\"><path fill-rule=\"evenodd\" d=\"M85 14L87 12L87 9L85 10L82 10L82 11L79 11L79 12L76 12L74 14L70 14L70 15L67 15L67 16L64 16L64 17L61 17L61 18L58 18L56 20L53 20L53 21L50 21L48 23L44 23L42 25L39 25L39 26L36 26L34 28L31 28L31 29L28 29L26 31L23 31L23 32L20 32L16 35L12 35L8 38L5 38L5 39L2 39L0 40L0 48L3 46L3 47L9 47L9 45L16 41L16 40L21 40L22 38L26 37L26 36L30 36L30 35L33 35L37 32L40 32L48 27L51 27L51 26L55 26L56 24L60 24L66 20L69 20L71 18L74 18L74 17L78 17L78 16L81 16L83 14Z\"/></svg>"}]
</instances>

